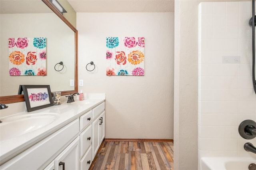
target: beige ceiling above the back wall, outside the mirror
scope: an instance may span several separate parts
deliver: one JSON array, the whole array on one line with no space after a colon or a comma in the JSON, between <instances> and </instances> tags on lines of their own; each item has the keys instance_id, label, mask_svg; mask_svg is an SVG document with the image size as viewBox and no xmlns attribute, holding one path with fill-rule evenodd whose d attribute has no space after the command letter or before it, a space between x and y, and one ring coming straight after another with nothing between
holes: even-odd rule
<instances>
[{"instance_id":1,"label":"beige ceiling above the back wall, outside the mirror","mask_svg":"<svg viewBox=\"0 0 256 170\"><path fill-rule=\"evenodd\" d=\"M76 12L174 12L174 0L68 0L68 2Z\"/></svg>"}]
</instances>

